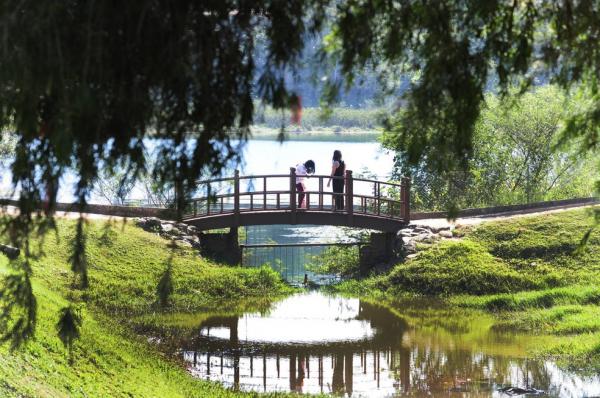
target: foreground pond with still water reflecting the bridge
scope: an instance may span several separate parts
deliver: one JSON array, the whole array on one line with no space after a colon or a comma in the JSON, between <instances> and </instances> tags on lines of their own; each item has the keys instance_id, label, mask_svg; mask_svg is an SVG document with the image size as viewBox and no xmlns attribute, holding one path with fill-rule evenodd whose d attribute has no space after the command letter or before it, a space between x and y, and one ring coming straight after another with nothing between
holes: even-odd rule
<instances>
[{"instance_id":1,"label":"foreground pond with still water reflecting the bridge","mask_svg":"<svg viewBox=\"0 0 600 398\"><path fill-rule=\"evenodd\" d=\"M397 310L313 291L263 313L215 316L181 344L195 377L235 390L332 393L347 397L600 394L598 376L528 358L540 336L497 333L485 314L430 304ZM532 390L533 391L533 390Z\"/></svg>"}]
</instances>

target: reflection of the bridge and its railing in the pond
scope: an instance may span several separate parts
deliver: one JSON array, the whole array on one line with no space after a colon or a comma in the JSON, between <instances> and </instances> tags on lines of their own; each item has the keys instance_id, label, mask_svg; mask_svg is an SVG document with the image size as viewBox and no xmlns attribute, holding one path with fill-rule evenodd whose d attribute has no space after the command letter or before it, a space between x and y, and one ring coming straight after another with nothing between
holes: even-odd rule
<instances>
[{"instance_id":1,"label":"reflection of the bridge and its railing in the pond","mask_svg":"<svg viewBox=\"0 0 600 398\"><path fill-rule=\"evenodd\" d=\"M362 333L367 329L360 328L365 324L377 328L379 322L390 321L386 313L369 303L360 303L358 315L344 320L350 333L340 340L334 338L335 333L319 339L322 329L309 326L299 330L297 323L289 320L291 325L282 333L290 329L300 332L291 336L291 341L245 339L249 330L244 318L215 317L202 324L200 336L186 347L184 357L196 376L218 380L236 390L241 387L351 396L355 386L360 385L361 391L392 393L399 385L410 386L410 352L391 344L400 341L407 325L393 317L391 324L386 323L385 329L376 329L375 333ZM317 334L310 335L311 331ZM389 369L399 370L400 384L390 379Z\"/></svg>"}]
</instances>

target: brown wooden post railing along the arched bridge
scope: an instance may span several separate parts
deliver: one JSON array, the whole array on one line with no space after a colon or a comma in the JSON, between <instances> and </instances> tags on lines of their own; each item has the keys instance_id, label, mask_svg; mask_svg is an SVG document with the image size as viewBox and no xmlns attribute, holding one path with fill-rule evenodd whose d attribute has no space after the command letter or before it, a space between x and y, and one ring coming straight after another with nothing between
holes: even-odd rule
<instances>
[{"instance_id":1,"label":"brown wooden post railing along the arched bridge","mask_svg":"<svg viewBox=\"0 0 600 398\"><path fill-rule=\"evenodd\" d=\"M236 170L233 177L198 181L197 195L188 202L184 218L261 211L322 211L410 220L408 178L400 183L354 178L351 170L346 170L343 177L312 175L305 178L307 189L302 207L296 179L295 169L291 168L289 174L240 176ZM330 190L333 180L344 181L343 193ZM336 208L336 198L343 202L343 208Z\"/></svg>"}]
</instances>

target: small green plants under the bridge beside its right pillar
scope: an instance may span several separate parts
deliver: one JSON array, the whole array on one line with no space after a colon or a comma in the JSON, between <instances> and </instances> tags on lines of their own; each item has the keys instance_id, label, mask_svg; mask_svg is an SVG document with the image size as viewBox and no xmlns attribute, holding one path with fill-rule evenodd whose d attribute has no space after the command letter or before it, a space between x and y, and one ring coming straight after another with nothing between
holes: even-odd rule
<instances>
[{"instance_id":1,"label":"small green plants under the bridge beside its right pillar","mask_svg":"<svg viewBox=\"0 0 600 398\"><path fill-rule=\"evenodd\" d=\"M318 255L310 256L306 268L318 274L343 278L358 276L358 246L332 246Z\"/></svg>"}]
</instances>

